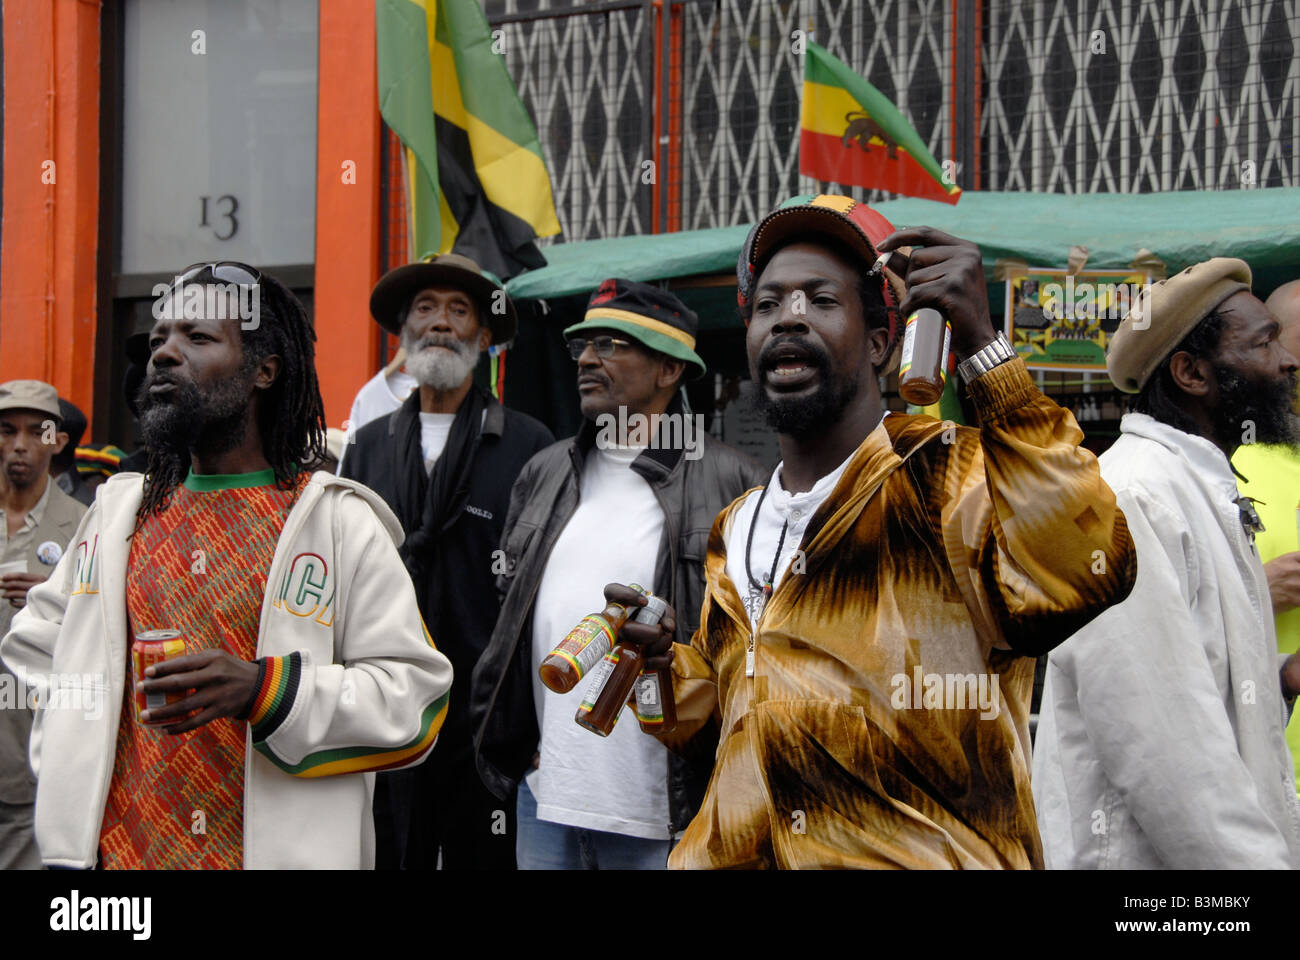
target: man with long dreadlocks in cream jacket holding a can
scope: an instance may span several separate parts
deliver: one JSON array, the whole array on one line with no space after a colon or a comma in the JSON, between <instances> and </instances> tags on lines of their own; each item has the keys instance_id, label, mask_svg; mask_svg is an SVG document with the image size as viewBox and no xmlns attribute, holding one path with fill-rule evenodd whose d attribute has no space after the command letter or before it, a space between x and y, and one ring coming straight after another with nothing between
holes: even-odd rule
<instances>
[{"instance_id":1,"label":"man with long dreadlocks in cream jacket holding a can","mask_svg":"<svg viewBox=\"0 0 1300 960\"><path fill-rule=\"evenodd\" d=\"M282 284L198 264L155 317L148 471L104 484L0 644L38 696L42 860L369 868L373 771L425 757L451 687L400 527L360 484L309 470L315 333ZM133 637L165 628L185 656L135 687ZM138 713L138 692L182 699Z\"/></svg>"}]
</instances>

